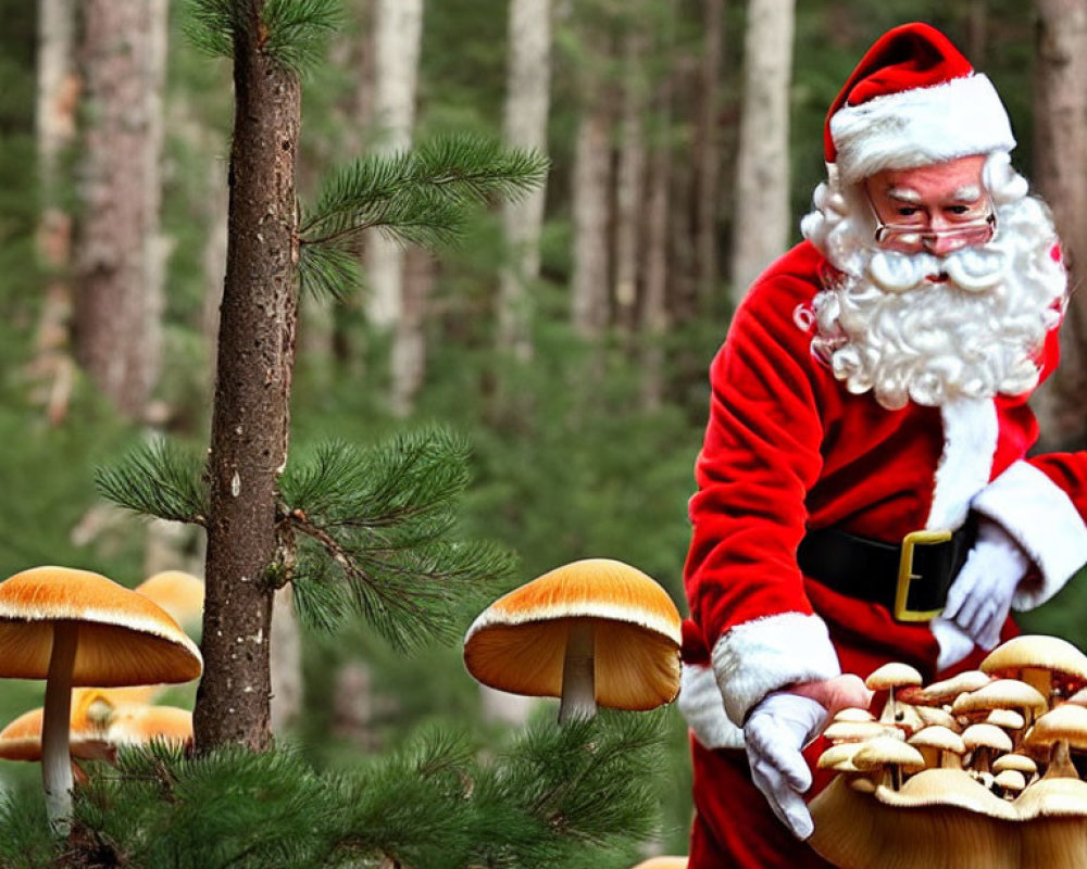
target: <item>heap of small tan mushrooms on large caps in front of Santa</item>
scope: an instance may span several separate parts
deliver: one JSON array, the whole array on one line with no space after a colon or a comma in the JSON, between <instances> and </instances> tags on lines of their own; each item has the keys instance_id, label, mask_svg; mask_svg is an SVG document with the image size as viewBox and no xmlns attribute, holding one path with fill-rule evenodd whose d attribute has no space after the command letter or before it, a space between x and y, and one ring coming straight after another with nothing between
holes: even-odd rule
<instances>
[{"instance_id":1,"label":"heap of small tan mushrooms on large caps in front of Santa","mask_svg":"<svg viewBox=\"0 0 1087 869\"><path fill-rule=\"evenodd\" d=\"M819 767L812 845L844 869L1072 869L1087 861L1087 656L1016 637L980 669L922 684L904 664L865 684L878 718L844 709ZM878 696L878 695L877 695Z\"/></svg>"}]
</instances>

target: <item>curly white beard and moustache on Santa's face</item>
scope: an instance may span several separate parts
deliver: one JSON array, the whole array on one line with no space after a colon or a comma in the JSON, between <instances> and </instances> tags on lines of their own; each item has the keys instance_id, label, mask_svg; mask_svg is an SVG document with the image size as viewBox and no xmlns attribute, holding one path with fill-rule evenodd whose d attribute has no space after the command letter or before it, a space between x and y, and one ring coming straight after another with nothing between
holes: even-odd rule
<instances>
[{"instance_id":1,"label":"curly white beard and moustache on Santa's face","mask_svg":"<svg viewBox=\"0 0 1087 869\"><path fill-rule=\"evenodd\" d=\"M888 410L1021 395L1038 382L1046 333L1063 315L1066 276L1046 206L1004 161L987 166L997 232L946 256L877 249L864 206L825 186L804 234L839 273L812 302L812 350L852 393ZM990 163L992 159L990 158ZM991 176L1004 169L1002 185ZM855 216L860 213L861 216ZM946 276L932 282L929 276Z\"/></svg>"}]
</instances>

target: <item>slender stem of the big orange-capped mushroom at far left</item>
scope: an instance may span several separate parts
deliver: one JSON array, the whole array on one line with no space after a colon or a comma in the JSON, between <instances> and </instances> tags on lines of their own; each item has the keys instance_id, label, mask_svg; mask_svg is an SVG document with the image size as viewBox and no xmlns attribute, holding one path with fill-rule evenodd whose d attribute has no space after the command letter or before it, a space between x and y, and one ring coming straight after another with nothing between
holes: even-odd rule
<instances>
[{"instance_id":1,"label":"slender stem of the big orange-capped mushroom at far left","mask_svg":"<svg viewBox=\"0 0 1087 869\"><path fill-rule=\"evenodd\" d=\"M72 716L72 668L75 664L79 625L53 625L53 647L46 680L46 702L41 720L41 784L49 822L59 835L66 835L72 816L72 758L68 728Z\"/></svg>"}]
</instances>

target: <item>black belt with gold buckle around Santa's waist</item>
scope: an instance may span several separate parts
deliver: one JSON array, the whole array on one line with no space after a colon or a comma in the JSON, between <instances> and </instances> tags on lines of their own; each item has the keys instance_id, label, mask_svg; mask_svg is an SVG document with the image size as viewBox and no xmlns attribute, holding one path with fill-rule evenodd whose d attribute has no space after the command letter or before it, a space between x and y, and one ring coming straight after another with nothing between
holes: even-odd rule
<instances>
[{"instance_id":1,"label":"black belt with gold buckle around Santa's waist","mask_svg":"<svg viewBox=\"0 0 1087 869\"><path fill-rule=\"evenodd\" d=\"M958 531L913 531L901 543L817 528L800 541L797 562L805 576L839 594L880 604L898 621L928 621L944 610L975 531L973 517Z\"/></svg>"}]
</instances>

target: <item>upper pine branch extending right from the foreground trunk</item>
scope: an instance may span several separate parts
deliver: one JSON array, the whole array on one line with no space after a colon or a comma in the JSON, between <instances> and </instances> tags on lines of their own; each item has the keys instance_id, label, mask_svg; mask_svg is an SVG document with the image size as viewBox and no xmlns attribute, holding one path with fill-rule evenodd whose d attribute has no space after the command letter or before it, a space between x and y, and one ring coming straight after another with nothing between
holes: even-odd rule
<instances>
[{"instance_id":1,"label":"upper pine branch extending right from the foreground trunk","mask_svg":"<svg viewBox=\"0 0 1087 869\"><path fill-rule=\"evenodd\" d=\"M304 215L302 247L343 243L367 229L401 242L448 244L467 207L493 196L517 199L539 187L548 161L478 136L435 139L413 151L371 155L335 173Z\"/></svg>"}]
</instances>

